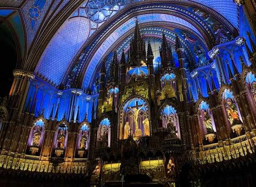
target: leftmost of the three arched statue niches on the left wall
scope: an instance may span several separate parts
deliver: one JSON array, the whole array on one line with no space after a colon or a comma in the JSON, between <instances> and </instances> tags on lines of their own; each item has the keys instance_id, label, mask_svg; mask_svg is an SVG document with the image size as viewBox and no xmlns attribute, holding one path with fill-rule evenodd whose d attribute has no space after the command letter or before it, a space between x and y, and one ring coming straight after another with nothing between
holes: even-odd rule
<instances>
[{"instance_id":1,"label":"leftmost of the three arched statue niches on the left wall","mask_svg":"<svg viewBox=\"0 0 256 187\"><path fill-rule=\"evenodd\" d=\"M30 147L31 155L35 155L43 141L44 123L42 119L37 120L30 132L30 138L28 139L28 146Z\"/></svg>"}]
</instances>

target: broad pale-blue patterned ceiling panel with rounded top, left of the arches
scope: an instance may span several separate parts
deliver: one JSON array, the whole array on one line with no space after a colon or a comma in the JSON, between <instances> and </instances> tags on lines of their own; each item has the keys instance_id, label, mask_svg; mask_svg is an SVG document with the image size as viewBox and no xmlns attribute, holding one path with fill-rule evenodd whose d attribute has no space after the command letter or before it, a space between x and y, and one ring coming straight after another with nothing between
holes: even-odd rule
<instances>
[{"instance_id":1,"label":"broad pale-blue patterned ceiling panel with rounded top, left of the arches","mask_svg":"<svg viewBox=\"0 0 256 187\"><path fill-rule=\"evenodd\" d=\"M66 21L48 44L35 72L59 85L70 61L87 40L89 31L87 18L75 17Z\"/></svg>"}]
</instances>

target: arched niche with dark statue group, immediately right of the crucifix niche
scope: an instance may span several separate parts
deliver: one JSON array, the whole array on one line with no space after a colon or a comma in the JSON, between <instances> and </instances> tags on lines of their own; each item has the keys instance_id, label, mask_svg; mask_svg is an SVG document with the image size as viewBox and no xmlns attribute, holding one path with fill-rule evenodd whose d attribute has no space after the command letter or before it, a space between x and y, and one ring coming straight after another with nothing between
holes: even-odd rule
<instances>
[{"instance_id":1,"label":"arched niche with dark statue group, immediately right of the crucifix niche","mask_svg":"<svg viewBox=\"0 0 256 187\"><path fill-rule=\"evenodd\" d=\"M174 107L166 105L161 111L162 126L169 130L170 138L180 139L180 128L177 111Z\"/></svg>"}]
</instances>

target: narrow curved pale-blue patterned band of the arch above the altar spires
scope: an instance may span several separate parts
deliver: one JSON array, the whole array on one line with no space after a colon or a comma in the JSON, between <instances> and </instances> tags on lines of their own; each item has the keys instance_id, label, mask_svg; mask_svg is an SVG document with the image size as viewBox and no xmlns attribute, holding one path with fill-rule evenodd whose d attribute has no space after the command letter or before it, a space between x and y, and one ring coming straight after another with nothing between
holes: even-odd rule
<instances>
[{"instance_id":1,"label":"narrow curved pale-blue patterned band of the arch above the altar spires","mask_svg":"<svg viewBox=\"0 0 256 187\"><path fill-rule=\"evenodd\" d=\"M197 34L202 36L200 32L191 23L173 15L145 14L145 15L137 16L137 20L139 21L139 23L146 23L146 22L153 22L153 21L169 21L169 22L179 23L180 25L183 25L185 27L188 27L194 30L195 32L197 32ZM95 54L91 58L89 65L87 66L87 69L85 72L85 78L83 80L83 89L86 89L89 86L91 77L93 76L93 72L95 71L95 68L97 67L98 63L100 62L104 54L108 51L111 45L113 45L118 38L120 38L130 29L135 27L135 21L136 21L135 17L126 21L126 23L122 24L119 28L117 28L98 48L98 50L95 52Z\"/></svg>"}]
</instances>

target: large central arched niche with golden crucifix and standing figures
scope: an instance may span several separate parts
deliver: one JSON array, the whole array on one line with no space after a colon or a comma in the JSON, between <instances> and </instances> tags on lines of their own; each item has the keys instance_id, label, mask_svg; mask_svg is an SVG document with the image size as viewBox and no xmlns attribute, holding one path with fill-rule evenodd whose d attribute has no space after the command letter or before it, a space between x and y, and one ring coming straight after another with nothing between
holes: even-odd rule
<instances>
[{"instance_id":1,"label":"large central arched niche with golden crucifix and standing figures","mask_svg":"<svg viewBox=\"0 0 256 187\"><path fill-rule=\"evenodd\" d=\"M124 104L121 110L120 139L150 136L148 106L141 98L132 98Z\"/></svg>"}]
</instances>

